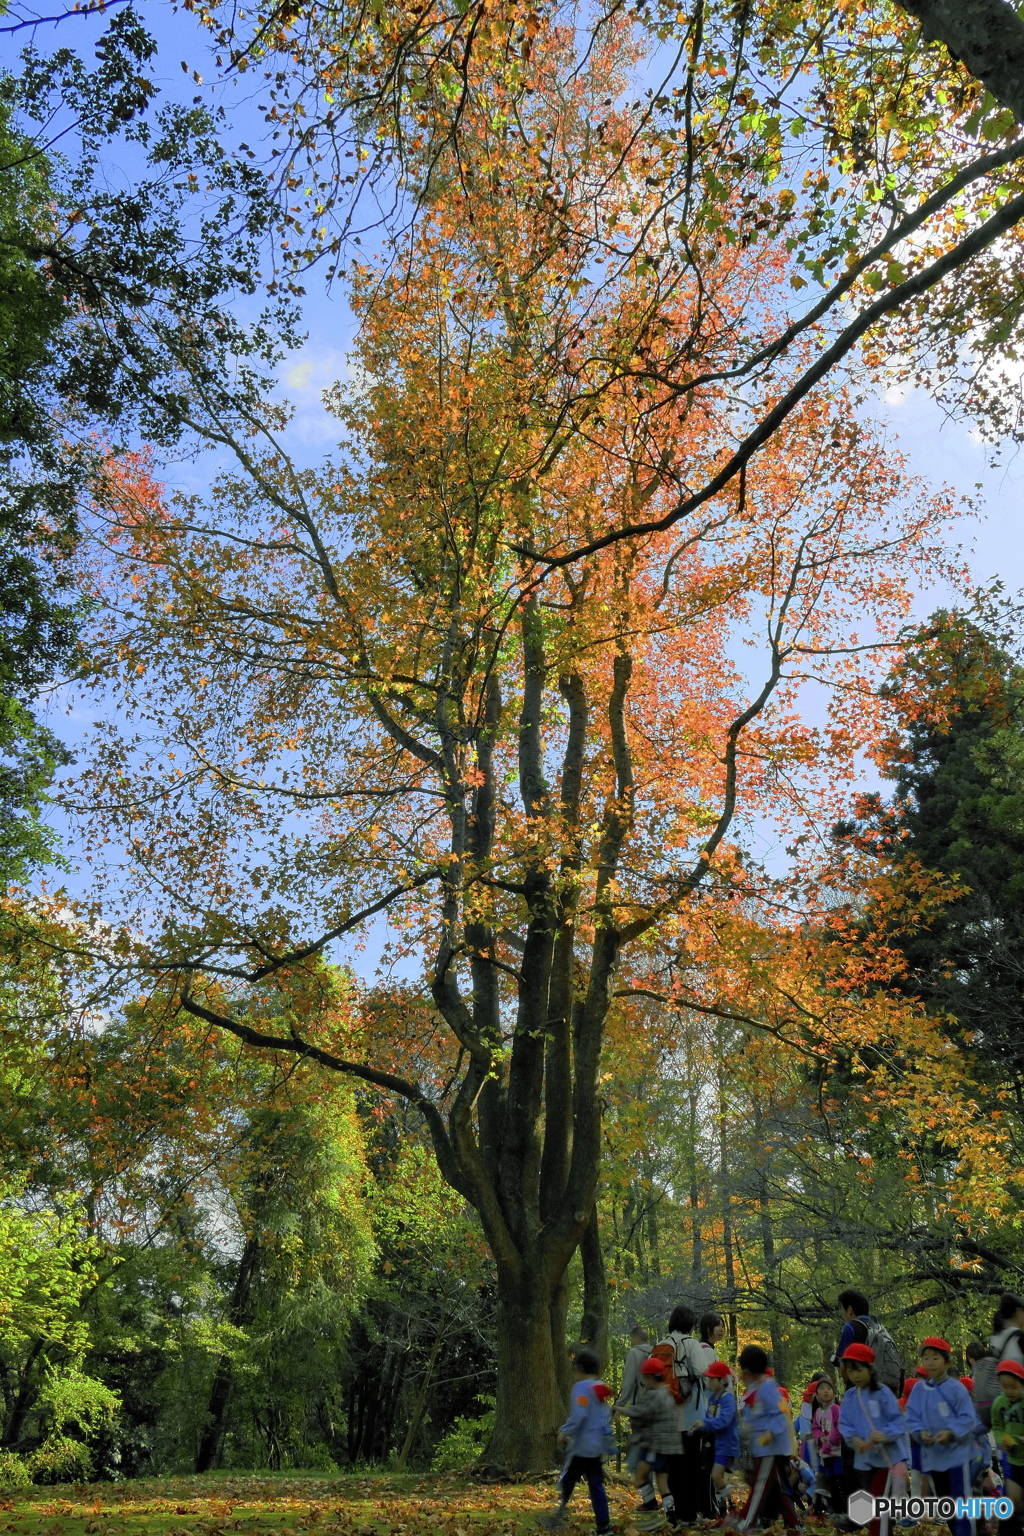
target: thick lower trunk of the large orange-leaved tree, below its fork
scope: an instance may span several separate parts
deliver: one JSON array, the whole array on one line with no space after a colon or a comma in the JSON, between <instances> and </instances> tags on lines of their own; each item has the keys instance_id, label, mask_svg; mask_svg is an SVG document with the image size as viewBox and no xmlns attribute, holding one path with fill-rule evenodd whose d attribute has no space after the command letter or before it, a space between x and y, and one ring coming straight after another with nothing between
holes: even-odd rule
<instances>
[{"instance_id":1,"label":"thick lower trunk of the large orange-leaved tree, below its fork","mask_svg":"<svg viewBox=\"0 0 1024 1536\"><path fill-rule=\"evenodd\" d=\"M488 1471L550 1471L554 1436L567 1413L551 1342L551 1289L536 1276L499 1278L494 1430L482 1458Z\"/></svg>"}]
</instances>

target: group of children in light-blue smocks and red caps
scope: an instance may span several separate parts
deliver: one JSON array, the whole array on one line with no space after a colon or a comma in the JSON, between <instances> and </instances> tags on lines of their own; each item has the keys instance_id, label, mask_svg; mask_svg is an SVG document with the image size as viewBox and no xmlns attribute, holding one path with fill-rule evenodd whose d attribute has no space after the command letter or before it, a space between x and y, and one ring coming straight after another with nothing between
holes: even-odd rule
<instances>
[{"instance_id":1,"label":"group of children in light-blue smocks and red caps","mask_svg":"<svg viewBox=\"0 0 1024 1536\"><path fill-rule=\"evenodd\" d=\"M738 1392L734 1392L731 1367L712 1361L702 1382L702 1418L683 1432L663 1362L652 1355L639 1367L640 1390L634 1401L614 1410L628 1416L633 1430L629 1465L642 1499L637 1530L679 1524L668 1471L672 1458L680 1456L683 1433L711 1438L718 1522L735 1530L748 1531L777 1518L798 1528L798 1507L811 1507L815 1513L831 1508L841 1524L849 1524L851 1487L892 1498L921 1491L953 1499L972 1491L1006 1493L1016 1521L1024 1502L1024 1366L1015 1359L996 1366L999 1392L992 1402L990 1438L975 1410L970 1378L952 1373L950 1356L946 1339L923 1339L920 1366L906 1382L906 1393L897 1398L878 1379L874 1349L863 1342L847 1344L838 1361L844 1384L841 1399L835 1384L821 1373L811 1382L794 1419L789 1395L775 1381L768 1355L757 1344L748 1344L738 1358ZM579 1350L576 1401L559 1432L559 1441L567 1445L559 1507L542 1518L548 1530L563 1522L573 1488L585 1478L597 1533L611 1531L602 1468L602 1458L614 1448L611 1392L597 1379L597 1356ZM998 1462L993 1462L993 1445ZM851 1482L851 1458L855 1482ZM728 1514L726 1479L740 1462L749 1495L743 1513L734 1518ZM970 1524L952 1519L952 1536L972 1536ZM878 1536L874 1521L869 1536Z\"/></svg>"}]
</instances>

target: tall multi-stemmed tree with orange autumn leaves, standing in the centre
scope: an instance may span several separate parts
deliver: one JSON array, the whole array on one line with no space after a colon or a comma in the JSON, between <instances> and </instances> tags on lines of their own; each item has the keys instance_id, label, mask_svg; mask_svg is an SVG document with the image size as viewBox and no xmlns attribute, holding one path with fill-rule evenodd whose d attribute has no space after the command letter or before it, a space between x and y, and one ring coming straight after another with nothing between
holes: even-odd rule
<instances>
[{"instance_id":1,"label":"tall multi-stemmed tree with orange autumn leaves, standing in the centre","mask_svg":"<svg viewBox=\"0 0 1024 1536\"><path fill-rule=\"evenodd\" d=\"M467 120L404 260L352 273L332 462L295 467L267 406L218 425L238 467L210 498L120 461L94 519L97 676L137 733L104 733L83 834L107 920L115 888L135 900L124 972L419 1109L494 1256L488 1461L517 1470L551 1462L563 1412L629 968L754 897L738 833L831 825L878 730L878 648L915 581L953 574L949 502L841 392L671 531L748 401L660 370L685 338L715 375L743 316L781 323L794 267L723 240L668 286L642 253L599 281L586 230L660 207L643 106L608 106L631 46L625 25L583 61L539 37L534 83ZM625 370L639 330L649 366ZM804 362L777 361L778 398ZM129 868L104 892L109 840ZM342 1025L324 955L381 914L422 985L385 974Z\"/></svg>"}]
</instances>

